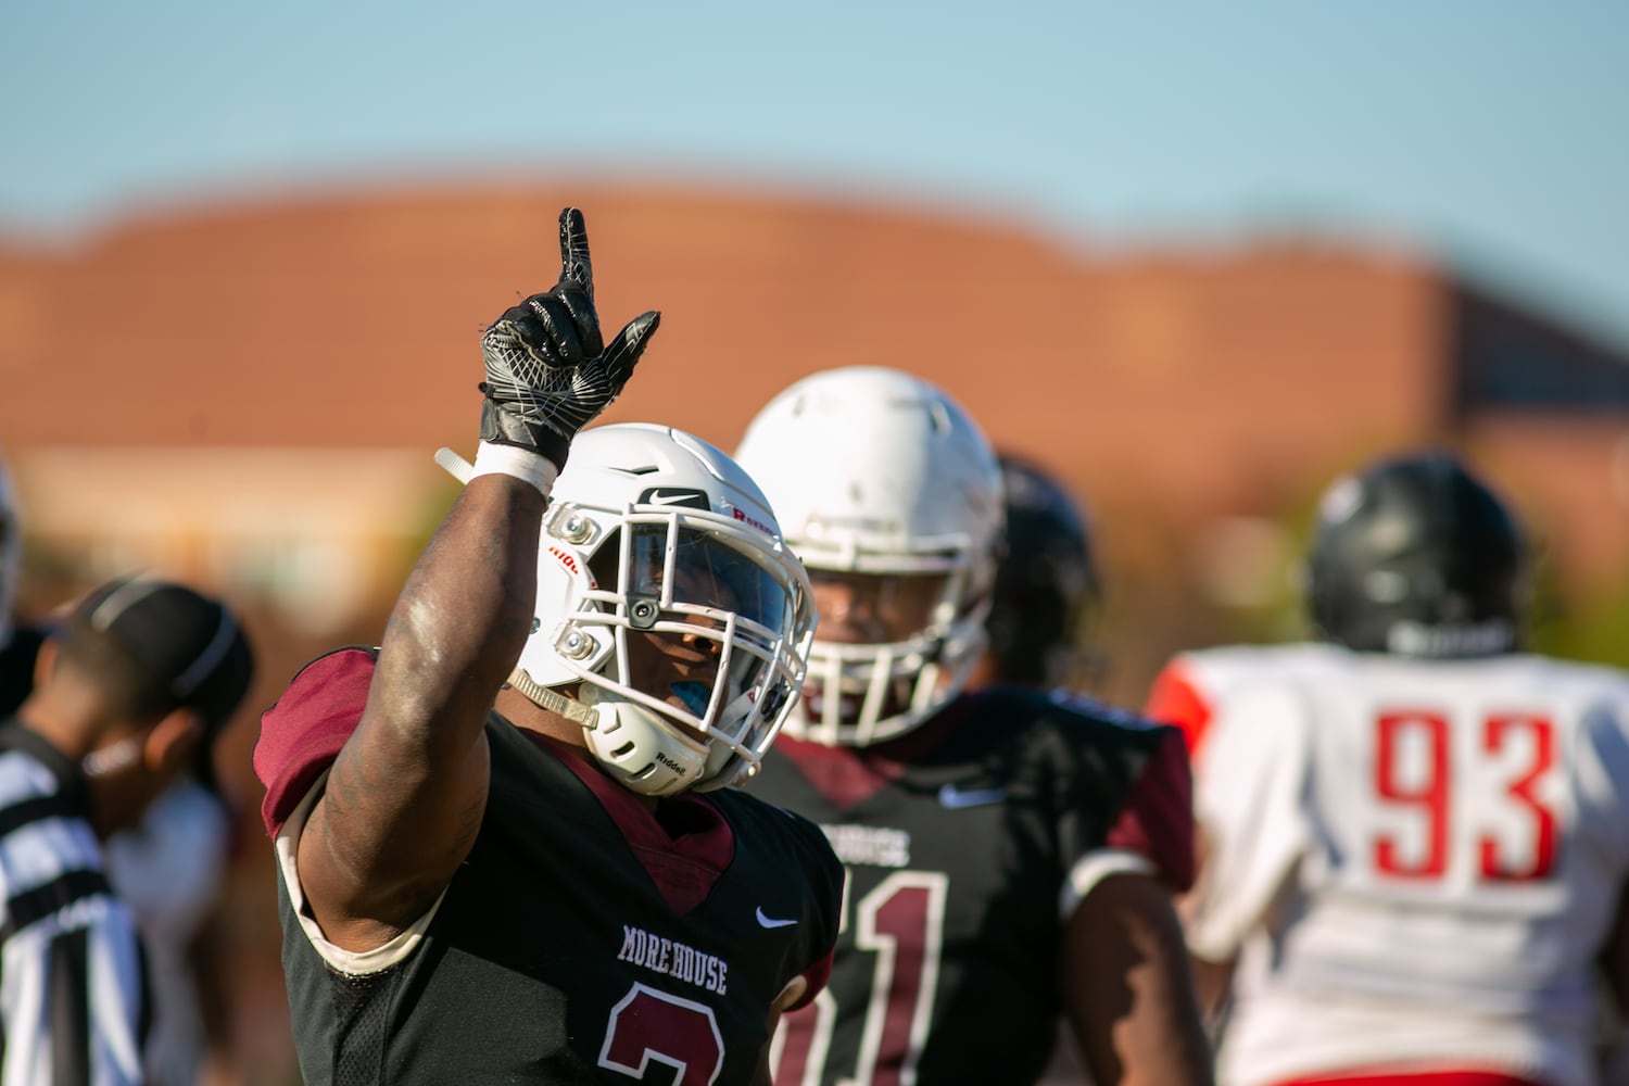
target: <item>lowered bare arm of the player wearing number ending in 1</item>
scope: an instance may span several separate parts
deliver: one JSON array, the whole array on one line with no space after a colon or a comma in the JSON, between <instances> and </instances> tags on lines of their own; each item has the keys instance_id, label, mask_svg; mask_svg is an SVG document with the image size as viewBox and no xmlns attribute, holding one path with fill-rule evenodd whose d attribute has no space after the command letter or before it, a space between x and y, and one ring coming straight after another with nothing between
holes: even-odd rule
<instances>
[{"instance_id":1,"label":"lowered bare arm of the player wearing number ending in 1","mask_svg":"<svg viewBox=\"0 0 1629 1086\"><path fill-rule=\"evenodd\" d=\"M1171 892L1111 874L1064 928L1064 1006L1098 1086L1210 1086L1210 1045Z\"/></svg>"}]
</instances>

